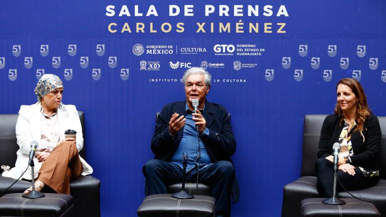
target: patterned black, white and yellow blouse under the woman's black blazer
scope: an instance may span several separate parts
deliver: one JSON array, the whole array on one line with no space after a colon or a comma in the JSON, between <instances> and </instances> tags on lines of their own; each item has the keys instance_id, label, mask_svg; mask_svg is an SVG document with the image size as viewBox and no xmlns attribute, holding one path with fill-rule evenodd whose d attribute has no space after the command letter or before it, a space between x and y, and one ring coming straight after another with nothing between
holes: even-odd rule
<instances>
[{"instance_id":1,"label":"patterned black, white and yellow blouse under the woman's black blazer","mask_svg":"<svg viewBox=\"0 0 386 217\"><path fill-rule=\"evenodd\" d=\"M352 144L351 144L351 133L353 128L356 126L356 122L354 121L354 124L352 125L350 132L348 132L349 124L344 120L344 127L342 129L342 132L339 136L339 143L340 143L340 151L339 151L339 157L344 157L349 162L351 162L350 156L354 155L354 150L352 150ZM378 176L379 170L377 171L366 171L362 167L358 167L362 172L364 176Z\"/></svg>"}]
</instances>

